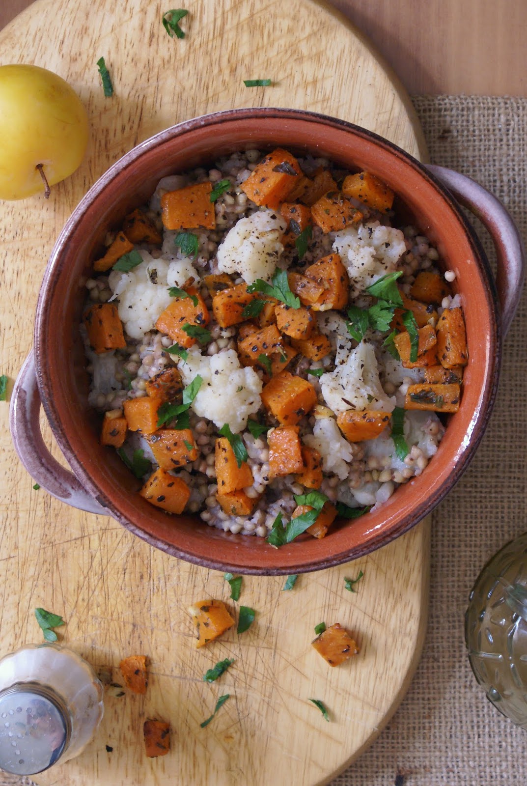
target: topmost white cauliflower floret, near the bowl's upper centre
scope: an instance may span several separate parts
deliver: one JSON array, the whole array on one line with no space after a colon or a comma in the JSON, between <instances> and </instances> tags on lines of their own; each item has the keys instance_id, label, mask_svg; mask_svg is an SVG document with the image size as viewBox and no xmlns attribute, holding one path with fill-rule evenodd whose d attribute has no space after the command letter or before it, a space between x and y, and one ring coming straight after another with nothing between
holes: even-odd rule
<instances>
[{"instance_id":1,"label":"topmost white cauliflower floret, near the bowl's upper centre","mask_svg":"<svg viewBox=\"0 0 527 786\"><path fill-rule=\"evenodd\" d=\"M287 222L276 210L261 210L232 227L218 246L218 270L238 273L254 284L257 278L269 281L284 246L280 243Z\"/></svg>"}]
</instances>

